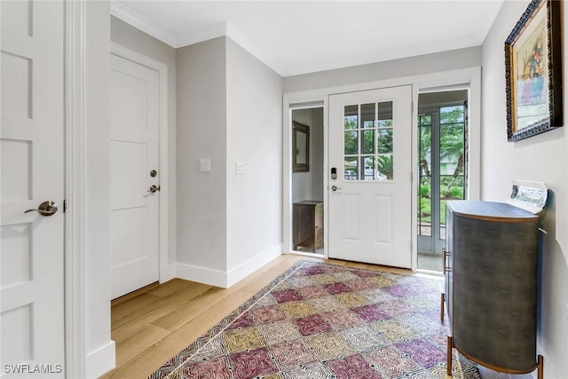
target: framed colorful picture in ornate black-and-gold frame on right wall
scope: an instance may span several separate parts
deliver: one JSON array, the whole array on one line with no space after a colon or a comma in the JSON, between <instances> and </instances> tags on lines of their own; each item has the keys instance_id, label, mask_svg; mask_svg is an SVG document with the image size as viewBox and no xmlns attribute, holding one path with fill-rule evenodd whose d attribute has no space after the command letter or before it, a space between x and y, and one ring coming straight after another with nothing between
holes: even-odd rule
<instances>
[{"instance_id":1,"label":"framed colorful picture in ornate black-and-gold frame on right wall","mask_svg":"<svg viewBox=\"0 0 568 379\"><path fill-rule=\"evenodd\" d=\"M509 141L563 126L560 4L533 0L505 41Z\"/></svg>"}]
</instances>

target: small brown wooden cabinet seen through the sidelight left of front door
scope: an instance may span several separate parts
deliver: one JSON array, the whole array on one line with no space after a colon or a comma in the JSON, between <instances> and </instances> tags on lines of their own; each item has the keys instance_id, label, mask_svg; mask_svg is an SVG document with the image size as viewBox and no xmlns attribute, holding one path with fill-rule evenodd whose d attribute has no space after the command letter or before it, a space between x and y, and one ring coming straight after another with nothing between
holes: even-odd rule
<instances>
[{"instance_id":1,"label":"small brown wooden cabinet seen through the sidelight left of front door","mask_svg":"<svg viewBox=\"0 0 568 379\"><path fill-rule=\"evenodd\" d=\"M298 201L292 211L294 249L312 251L323 248L323 201Z\"/></svg>"}]
</instances>

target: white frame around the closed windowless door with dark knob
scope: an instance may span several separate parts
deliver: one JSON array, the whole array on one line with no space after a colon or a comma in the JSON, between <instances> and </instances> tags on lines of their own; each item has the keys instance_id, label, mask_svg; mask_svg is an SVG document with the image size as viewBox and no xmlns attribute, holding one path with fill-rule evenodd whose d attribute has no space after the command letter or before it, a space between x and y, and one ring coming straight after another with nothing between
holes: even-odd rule
<instances>
[{"instance_id":1,"label":"white frame around the closed windowless door with dark knob","mask_svg":"<svg viewBox=\"0 0 568 379\"><path fill-rule=\"evenodd\" d=\"M158 72L159 85L160 85L160 104L159 104L159 135L160 141L158 145L159 150L159 172L160 172L160 186L165 186L165 191L160 191L160 216L159 216L159 280L160 282L168 281L175 277L175 265L169 264L169 207L170 207L170 172L169 172L169 131L168 131L168 67L165 63L140 54L138 51L132 51L118 43L110 43L110 53L117 57L130 60L140 66L150 68Z\"/></svg>"}]
</instances>

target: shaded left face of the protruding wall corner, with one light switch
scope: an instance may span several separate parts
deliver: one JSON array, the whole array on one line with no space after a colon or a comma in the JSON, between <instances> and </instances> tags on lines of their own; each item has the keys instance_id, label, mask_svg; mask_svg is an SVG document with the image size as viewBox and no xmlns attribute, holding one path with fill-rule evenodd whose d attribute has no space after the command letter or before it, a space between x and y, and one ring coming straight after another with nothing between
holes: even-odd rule
<instances>
[{"instance_id":1,"label":"shaded left face of the protruding wall corner, with one light switch","mask_svg":"<svg viewBox=\"0 0 568 379\"><path fill-rule=\"evenodd\" d=\"M226 271L226 39L177 50L177 263ZM200 159L211 170L200 171Z\"/></svg>"}]
</instances>

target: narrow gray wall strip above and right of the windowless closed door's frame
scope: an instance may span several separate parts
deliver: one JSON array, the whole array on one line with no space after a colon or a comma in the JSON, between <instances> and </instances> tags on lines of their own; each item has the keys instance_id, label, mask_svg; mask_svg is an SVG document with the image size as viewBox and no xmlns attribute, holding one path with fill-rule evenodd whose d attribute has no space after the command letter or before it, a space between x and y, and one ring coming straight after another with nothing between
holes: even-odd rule
<instances>
[{"instance_id":1,"label":"narrow gray wall strip above and right of the windowless closed door's frame","mask_svg":"<svg viewBox=\"0 0 568 379\"><path fill-rule=\"evenodd\" d=\"M169 238L169 262L176 261L176 49L166 43L149 36L127 24L126 22L111 16L110 18L110 38L114 43L118 43L140 54L146 55L168 67L168 145L170 147L168 166L170 178L168 183L161 183L161 191L168 191L170 208L168 214L170 219L170 238Z\"/></svg>"}]
</instances>

